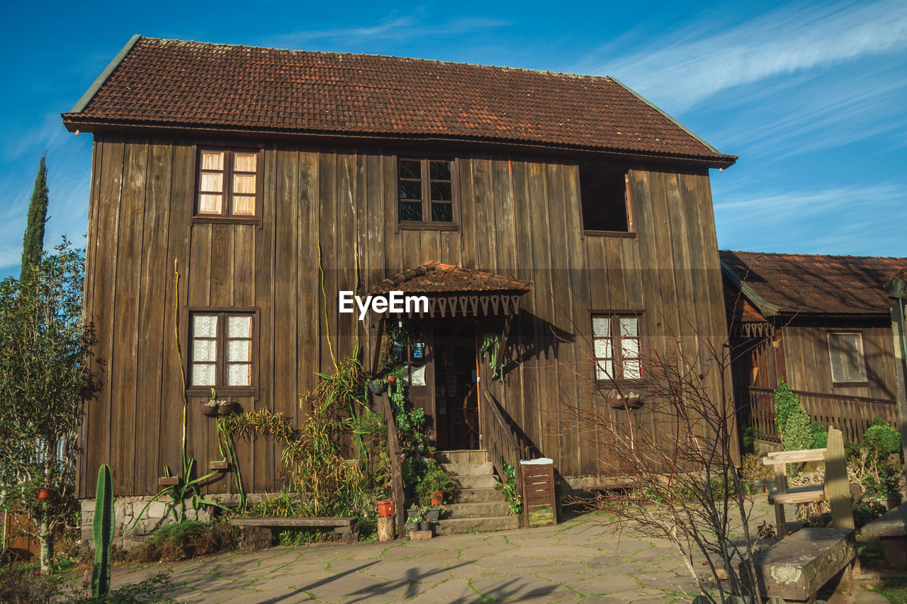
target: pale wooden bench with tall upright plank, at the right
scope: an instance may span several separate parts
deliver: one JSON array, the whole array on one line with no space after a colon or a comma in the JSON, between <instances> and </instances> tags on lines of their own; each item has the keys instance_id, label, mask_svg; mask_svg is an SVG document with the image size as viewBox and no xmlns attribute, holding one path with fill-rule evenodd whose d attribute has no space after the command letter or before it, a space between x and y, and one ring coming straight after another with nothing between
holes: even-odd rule
<instances>
[{"instance_id":1,"label":"pale wooden bench with tall upright plank, at the right","mask_svg":"<svg viewBox=\"0 0 907 604\"><path fill-rule=\"evenodd\" d=\"M787 464L804 462L825 463L823 484L788 486ZM775 469L775 488L768 493L768 502L775 505L778 539L787 536L785 503L829 502L834 528L853 530L851 493L847 481L847 463L844 460L844 434L840 430L828 429L828 446L824 449L768 453L762 458L762 463Z\"/></svg>"}]
</instances>

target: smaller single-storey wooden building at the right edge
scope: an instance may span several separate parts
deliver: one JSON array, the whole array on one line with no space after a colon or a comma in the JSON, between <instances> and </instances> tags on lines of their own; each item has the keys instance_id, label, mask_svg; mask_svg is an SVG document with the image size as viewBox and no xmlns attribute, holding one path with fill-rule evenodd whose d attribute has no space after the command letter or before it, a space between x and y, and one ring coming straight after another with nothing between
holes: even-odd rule
<instances>
[{"instance_id":1,"label":"smaller single-storey wooden building at the right edge","mask_svg":"<svg viewBox=\"0 0 907 604\"><path fill-rule=\"evenodd\" d=\"M743 425L778 439L772 391L785 381L849 441L876 416L898 427L898 311L884 286L907 258L723 250L721 264Z\"/></svg>"}]
</instances>

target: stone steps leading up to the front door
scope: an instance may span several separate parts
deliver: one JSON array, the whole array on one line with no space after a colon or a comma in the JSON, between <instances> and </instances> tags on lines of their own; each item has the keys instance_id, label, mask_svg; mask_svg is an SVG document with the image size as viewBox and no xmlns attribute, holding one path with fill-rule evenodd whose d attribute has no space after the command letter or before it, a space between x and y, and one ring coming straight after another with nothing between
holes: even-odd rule
<instances>
[{"instance_id":1,"label":"stone steps leading up to the front door","mask_svg":"<svg viewBox=\"0 0 907 604\"><path fill-rule=\"evenodd\" d=\"M503 493L494 488L494 466L484 451L445 451L435 454L453 474L460 489L435 529L438 535L469 531L505 531L520 528L520 517L508 513Z\"/></svg>"}]
</instances>

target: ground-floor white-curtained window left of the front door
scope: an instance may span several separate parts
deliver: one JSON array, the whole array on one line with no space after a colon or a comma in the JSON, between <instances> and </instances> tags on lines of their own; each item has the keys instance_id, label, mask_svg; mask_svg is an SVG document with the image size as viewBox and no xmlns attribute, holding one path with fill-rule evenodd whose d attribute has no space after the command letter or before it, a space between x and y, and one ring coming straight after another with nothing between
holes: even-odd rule
<instances>
[{"instance_id":1,"label":"ground-floor white-curtained window left of the front door","mask_svg":"<svg viewBox=\"0 0 907 604\"><path fill-rule=\"evenodd\" d=\"M254 311L193 311L190 386L251 388L254 334Z\"/></svg>"}]
</instances>

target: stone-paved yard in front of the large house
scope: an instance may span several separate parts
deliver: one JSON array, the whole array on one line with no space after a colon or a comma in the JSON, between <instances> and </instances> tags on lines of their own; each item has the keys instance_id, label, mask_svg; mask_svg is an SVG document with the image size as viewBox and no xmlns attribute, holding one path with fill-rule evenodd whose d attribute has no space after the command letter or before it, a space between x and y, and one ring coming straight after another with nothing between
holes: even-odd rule
<instances>
[{"instance_id":1,"label":"stone-paved yard in front of the large house","mask_svg":"<svg viewBox=\"0 0 907 604\"><path fill-rule=\"evenodd\" d=\"M187 602L689 602L697 589L667 541L613 534L603 516L427 541L321 544L162 565ZM752 527L774 521L757 503ZM161 570L113 569L113 587Z\"/></svg>"}]
</instances>

